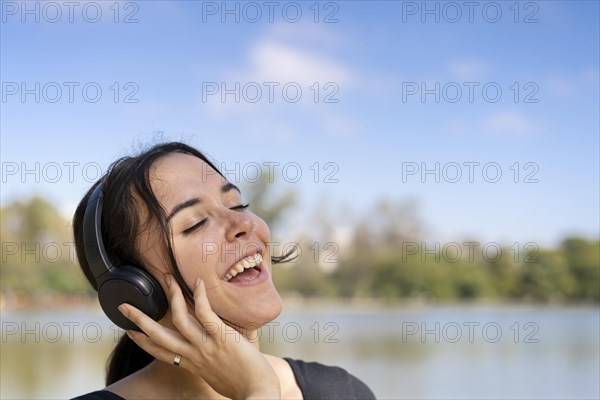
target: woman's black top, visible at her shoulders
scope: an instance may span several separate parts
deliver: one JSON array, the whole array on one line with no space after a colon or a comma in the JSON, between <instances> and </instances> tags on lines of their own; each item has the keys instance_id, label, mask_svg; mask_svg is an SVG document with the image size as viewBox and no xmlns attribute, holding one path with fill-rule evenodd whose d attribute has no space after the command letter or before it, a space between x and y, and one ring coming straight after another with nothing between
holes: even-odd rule
<instances>
[{"instance_id":1,"label":"woman's black top, visible at her shoulders","mask_svg":"<svg viewBox=\"0 0 600 400\"><path fill-rule=\"evenodd\" d=\"M304 399L372 400L375 395L358 378L339 367L284 358L292 367ZM125 400L108 390L84 394L73 400Z\"/></svg>"}]
</instances>

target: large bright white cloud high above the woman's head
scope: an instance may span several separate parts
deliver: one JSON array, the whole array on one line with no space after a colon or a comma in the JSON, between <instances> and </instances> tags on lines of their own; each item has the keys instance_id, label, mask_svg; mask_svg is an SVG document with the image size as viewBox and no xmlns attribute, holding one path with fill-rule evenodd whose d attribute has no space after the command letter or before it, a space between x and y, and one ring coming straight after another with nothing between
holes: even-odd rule
<instances>
[{"instance_id":1,"label":"large bright white cloud high above the woman's head","mask_svg":"<svg viewBox=\"0 0 600 400\"><path fill-rule=\"evenodd\" d=\"M336 56L342 41L323 28L300 28L271 27L248 46L238 66L223 68L222 82L228 90L238 84L242 96L237 102L233 95L207 97L203 104L211 110L207 117L236 119L250 130L259 126L256 132L284 141L303 132L304 127L294 124L292 117L310 121L334 136L358 132L359 124L341 105L344 94L357 81L356 74ZM286 85L290 85L289 92L284 91ZM297 103L285 97L297 93L292 86L299 87L302 94ZM326 100L339 102L327 104Z\"/></svg>"}]
</instances>

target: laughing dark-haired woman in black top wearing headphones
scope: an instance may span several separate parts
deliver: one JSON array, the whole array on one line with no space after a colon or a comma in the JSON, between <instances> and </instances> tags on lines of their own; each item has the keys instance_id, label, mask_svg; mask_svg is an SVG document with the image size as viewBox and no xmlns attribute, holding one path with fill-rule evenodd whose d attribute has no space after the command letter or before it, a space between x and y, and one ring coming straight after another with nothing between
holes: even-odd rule
<instances>
[{"instance_id":1,"label":"laughing dark-haired woman in black top wearing headphones","mask_svg":"<svg viewBox=\"0 0 600 400\"><path fill-rule=\"evenodd\" d=\"M90 189L73 229L79 264L96 290L104 283L86 257L84 226L88 200L97 196L107 263L149 273L168 307L155 321L131 304L118 306L139 331L128 330L113 351L107 387L80 399L374 398L341 368L259 351L258 328L281 312L272 262L290 255L269 253L268 226L203 154L160 144L116 161Z\"/></svg>"}]
</instances>

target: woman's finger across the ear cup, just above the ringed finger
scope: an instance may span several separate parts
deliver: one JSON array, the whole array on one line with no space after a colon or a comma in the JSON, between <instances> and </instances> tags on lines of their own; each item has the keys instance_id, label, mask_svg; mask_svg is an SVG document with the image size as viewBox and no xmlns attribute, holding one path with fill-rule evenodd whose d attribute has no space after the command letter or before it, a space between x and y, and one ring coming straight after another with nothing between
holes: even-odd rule
<instances>
[{"instance_id":1,"label":"woman's finger across the ear cup, just above the ringed finger","mask_svg":"<svg viewBox=\"0 0 600 400\"><path fill-rule=\"evenodd\" d=\"M119 311L136 324L152 341L175 353L188 353L191 346L181 333L165 328L131 304L121 304Z\"/></svg>"}]
</instances>

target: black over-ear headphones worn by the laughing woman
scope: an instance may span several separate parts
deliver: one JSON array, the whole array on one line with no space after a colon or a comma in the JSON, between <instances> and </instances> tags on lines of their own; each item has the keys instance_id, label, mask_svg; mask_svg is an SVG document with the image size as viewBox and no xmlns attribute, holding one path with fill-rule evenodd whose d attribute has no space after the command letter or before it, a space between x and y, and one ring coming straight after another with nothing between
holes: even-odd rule
<instances>
[{"instance_id":1,"label":"black over-ear headphones worn by the laughing woman","mask_svg":"<svg viewBox=\"0 0 600 400\"><path fill-rule=\"evenodd\" d=\"M97 282L98 300L108 318L123 329L139 331L117 307L131 304L158 321L167 312L167 297L152 275L134 265L112 265L102 241L103 183L90 196L83 216L85 258Z\"/></svg>"}]
</instances>

